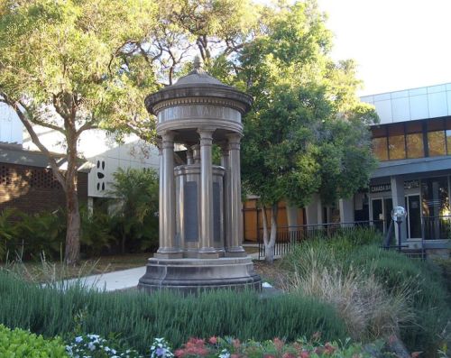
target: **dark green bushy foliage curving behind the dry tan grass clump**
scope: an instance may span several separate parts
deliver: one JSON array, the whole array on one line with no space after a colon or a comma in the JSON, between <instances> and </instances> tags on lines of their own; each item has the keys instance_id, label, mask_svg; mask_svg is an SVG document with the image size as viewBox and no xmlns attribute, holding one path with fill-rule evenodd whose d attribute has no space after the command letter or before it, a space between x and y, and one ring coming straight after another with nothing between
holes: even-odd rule
<instances>
[{"instance_id":1,"label":"dark green bushy foliage curving behind the dry tan grass clump","mask_svg":"<svg viewBox=\"0 0 451 358\"><path fill-rule=\"evenodd\" d=\"M446 342L443 332L451 320L446 281L433 262L382 250L381 243L382 239L375 233L372 238L371 232L362 234L361 238L344 234L329 241L313 240L300 244L287 255L282 267L296 270L302 277L311 270L310 252L314 252L318 267L337 268L345 273L358 271L367 280L377 280L392 296L405 293L413 318L400 326L400 337L410 351L436 356L437 349Z\"/></svg>"}]
</instances>

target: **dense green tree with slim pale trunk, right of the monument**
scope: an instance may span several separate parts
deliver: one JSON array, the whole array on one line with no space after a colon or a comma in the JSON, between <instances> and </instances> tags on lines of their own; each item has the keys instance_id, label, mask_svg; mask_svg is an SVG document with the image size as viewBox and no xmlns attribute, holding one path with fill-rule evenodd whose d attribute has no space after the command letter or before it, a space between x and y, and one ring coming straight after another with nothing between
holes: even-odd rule
<instances>
[{"instance_id":1,"label":"dense green tree with slim pale trunk, right of the monument","mask_svg":"<svg viewBox=\"0 0 451 358\"><path fill-rule=\"evenodd\" d=\"M260 197L272 262L279 201L305 207L320 193L332 203L367 185L375 160L366 124L377 115L355 96L354 62L328 56L331 36L315 1L282 5L263 21L265 32L240 54L236 80L255 98L244 119L242 173Z\"/></svg>"}]
</instances>

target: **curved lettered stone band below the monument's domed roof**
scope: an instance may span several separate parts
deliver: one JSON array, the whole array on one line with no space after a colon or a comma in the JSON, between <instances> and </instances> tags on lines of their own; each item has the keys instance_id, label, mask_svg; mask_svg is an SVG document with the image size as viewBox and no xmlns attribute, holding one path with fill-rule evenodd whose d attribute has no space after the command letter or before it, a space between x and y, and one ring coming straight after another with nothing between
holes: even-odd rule
<instances>
[{"instance_id":1,"label":"curved lettered stone band below the monument's domed roof","mask_svg":"<svg viewBox=\"0 0 451 358\"><path fill-rule=\"evenodd\" d=\"M225 106L211 105L173 106L165 108L158 114L158 123L199 118L225 119L227 121L241 123L241 114L237 110Z\"/></svg>"}]
</instances>

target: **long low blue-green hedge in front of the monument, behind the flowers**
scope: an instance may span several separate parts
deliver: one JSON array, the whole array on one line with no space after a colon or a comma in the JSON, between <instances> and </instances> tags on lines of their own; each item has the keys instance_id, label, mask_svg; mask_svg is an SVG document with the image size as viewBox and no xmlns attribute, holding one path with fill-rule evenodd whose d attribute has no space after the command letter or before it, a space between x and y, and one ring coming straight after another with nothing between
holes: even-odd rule
<instances>
[{"instance_id":1,"label":"long low blue-green hedge in front of the monument, behind the flowers","mask_svg":"<svg viewBox=\"0 0 451 358\"><path fill-rule=\"evenodd\" d=\"M6 326L45 336L68 335L78 326L85 334L119 335L141 353L150 337L161 336L170 337L175 346L191 336L211 335L293 341L320 331L326 340L345 338L334 308L299 295L262 299L253 292L224 290L186 298L170 292L101 293L82 287L41 288L0 272L0 300L0 322Z\"/></svg>"}]
</instances>

